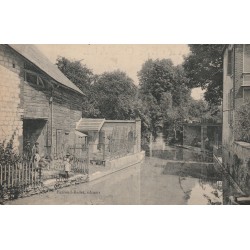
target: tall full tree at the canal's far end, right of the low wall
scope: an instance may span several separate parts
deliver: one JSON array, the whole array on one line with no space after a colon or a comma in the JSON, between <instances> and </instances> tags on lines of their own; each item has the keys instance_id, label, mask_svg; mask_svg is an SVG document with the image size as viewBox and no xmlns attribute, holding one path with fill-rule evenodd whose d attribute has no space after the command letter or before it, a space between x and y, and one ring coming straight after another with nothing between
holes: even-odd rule
<instances>
[{"instance_id":1,"label":"tall full tree at the canal's far end, right of the low wall","mask_svg":"<svg viewBox=\"0 0 250 250\"><path fill-rule=\"evenodd\" d=\"M142 65L138 77L140 96L148 107L147 115L150 117L153 137L163 128L166 131L179 127L171 126L174 119L169 112L176 110L175 114L178 116L190 96L183 68L174 66L169 59L149 59ZM176 124L181 120L182 117L176 117Z\"/></svg>"}]
</instances>

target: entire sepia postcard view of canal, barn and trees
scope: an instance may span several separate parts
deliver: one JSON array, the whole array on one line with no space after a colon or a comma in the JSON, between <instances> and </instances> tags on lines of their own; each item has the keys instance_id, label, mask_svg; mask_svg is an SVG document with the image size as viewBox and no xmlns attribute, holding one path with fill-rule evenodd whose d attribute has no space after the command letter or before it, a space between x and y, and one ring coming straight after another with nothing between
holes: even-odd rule
<instances>
[{"instance_id":1,"label":"entire sepia postcard view of canal, barn and trees","mask_svg":"<svg viewBox=\"0 0 250 250\"><path fill-rule=\"evenodd\" d=\"M2 205L250 204L250 45L1 44Z\"/></svg>"}]
</instances>

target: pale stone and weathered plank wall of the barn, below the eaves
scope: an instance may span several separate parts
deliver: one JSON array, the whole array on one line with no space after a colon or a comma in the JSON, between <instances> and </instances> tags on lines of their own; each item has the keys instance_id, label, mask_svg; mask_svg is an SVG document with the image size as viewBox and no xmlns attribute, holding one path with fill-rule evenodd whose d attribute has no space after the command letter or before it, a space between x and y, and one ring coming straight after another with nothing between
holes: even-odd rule
<instances>
[{"instance_id":1,"label":"pale stone and weathered plank wall of the barn, below the eaves","mask_svg":"<svg viewBox=\"0 0 250 250\"><path fill-rule=\"evenodd\" d=\"M82 117L82 95L64 87L52 91L25 82L24 62L10 48L0 45L0 141L9 140L17 131L15 147L21 153L25 147L23 124L33 124L40 134L31 136L31 147L38 141L41 155L62 158L77 139L74 132Z\"/></svg>"}]
</instances>

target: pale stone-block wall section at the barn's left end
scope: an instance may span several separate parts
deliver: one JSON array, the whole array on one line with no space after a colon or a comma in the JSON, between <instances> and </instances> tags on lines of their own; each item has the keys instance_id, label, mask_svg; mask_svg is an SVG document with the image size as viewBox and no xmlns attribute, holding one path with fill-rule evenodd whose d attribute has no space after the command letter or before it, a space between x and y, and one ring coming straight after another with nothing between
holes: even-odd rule
<instances>
[{"instance_id":1,"label":"pale stone-block wall section at the barn's left end","mask_svg":"<svg viewBox=\"0 0 250 250\"><path fill-rule=\"evenodd\" d=\"M22 151L22 116L21 98L22 61L0 45L0 143L7 142L14 136L15 151Z\"/></svg>"}]
</instances>

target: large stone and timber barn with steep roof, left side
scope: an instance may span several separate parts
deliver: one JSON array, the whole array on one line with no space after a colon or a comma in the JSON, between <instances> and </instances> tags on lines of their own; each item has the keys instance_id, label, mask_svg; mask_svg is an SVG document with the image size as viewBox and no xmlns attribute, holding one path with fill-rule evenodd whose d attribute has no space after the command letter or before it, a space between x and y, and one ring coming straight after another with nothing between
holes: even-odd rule
<instances>
[{"instance_id":1,"label":"large stone and timber barn with steep roof, left side","mask_svg":"<svg viewBox=\"0 0 250 250\"><path fill-rule=\"evenodd\" d=\"M35 46L0 45L0 142L14 135L19 153L37 142L41 156L62 158L84 141L83 96Z\"/></svg>"}]
</instances>

